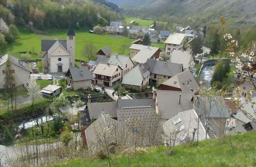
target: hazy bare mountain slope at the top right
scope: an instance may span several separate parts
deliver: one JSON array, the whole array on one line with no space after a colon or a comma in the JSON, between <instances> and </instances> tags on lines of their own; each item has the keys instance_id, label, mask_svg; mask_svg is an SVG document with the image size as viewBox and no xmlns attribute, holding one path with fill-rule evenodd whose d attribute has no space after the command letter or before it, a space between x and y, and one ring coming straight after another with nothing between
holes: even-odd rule
<instances>
[{"instance_id":1,"label":"hazy bare mountain slope at the top right","mask_svg":"<svg viewBox=\"0 0 256 167\"><path fill-rule=\"evenodd\" d=\"M130 0L109 1L122 5L130 2ZM181 20L200 20L201 23L219 21L219 16L223 15L226 19L230 19L230 24L256 25L256 0L142 1L143 3L139 3L139 5L136 3L136 5L130 8L130 15L137 15L144 18L176 16Z\"/></svg>"}]
</instances>

